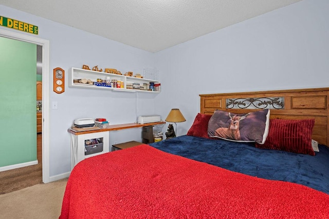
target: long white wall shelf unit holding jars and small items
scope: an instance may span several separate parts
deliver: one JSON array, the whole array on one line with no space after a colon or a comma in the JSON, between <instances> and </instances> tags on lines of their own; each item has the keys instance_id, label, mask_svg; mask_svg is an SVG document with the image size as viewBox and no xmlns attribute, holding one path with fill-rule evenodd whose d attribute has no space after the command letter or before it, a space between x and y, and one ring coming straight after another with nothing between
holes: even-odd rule
<instances>
[{"instance_id":1,"label":"long white wall shelf unit holding jars and small items","mask_svg":"<svg viewBox=\"0 0 329 219\"><path fill-rule=\"evenodd\" d=\"M86 79L87 81L89 80L90 84L81 83L83 81L84 82L86 81L81 79ZM106 79L109 79L111 81L112 79L115 79L116 81L123 82L123 88L115 88L115 87L109 87L104 84L98 84L97 81L99 79L105 81ZM145 84L150 88L151 83L152 85L154 85L153 90L128 89L132 87L138 88L138 84L139 87L144 87ZM92 89L105 89L105 90L116 90L116 91L131 91L131 92L138 91L138 92L159 93L160 92L160 88L158 87L159 85L160 85L159 81L154 81L151 79L92 71L92 70L86 70L80 68L71 68L68 77L68 86L75 88L92 88Z\"/></svg>"}]
</instances>

